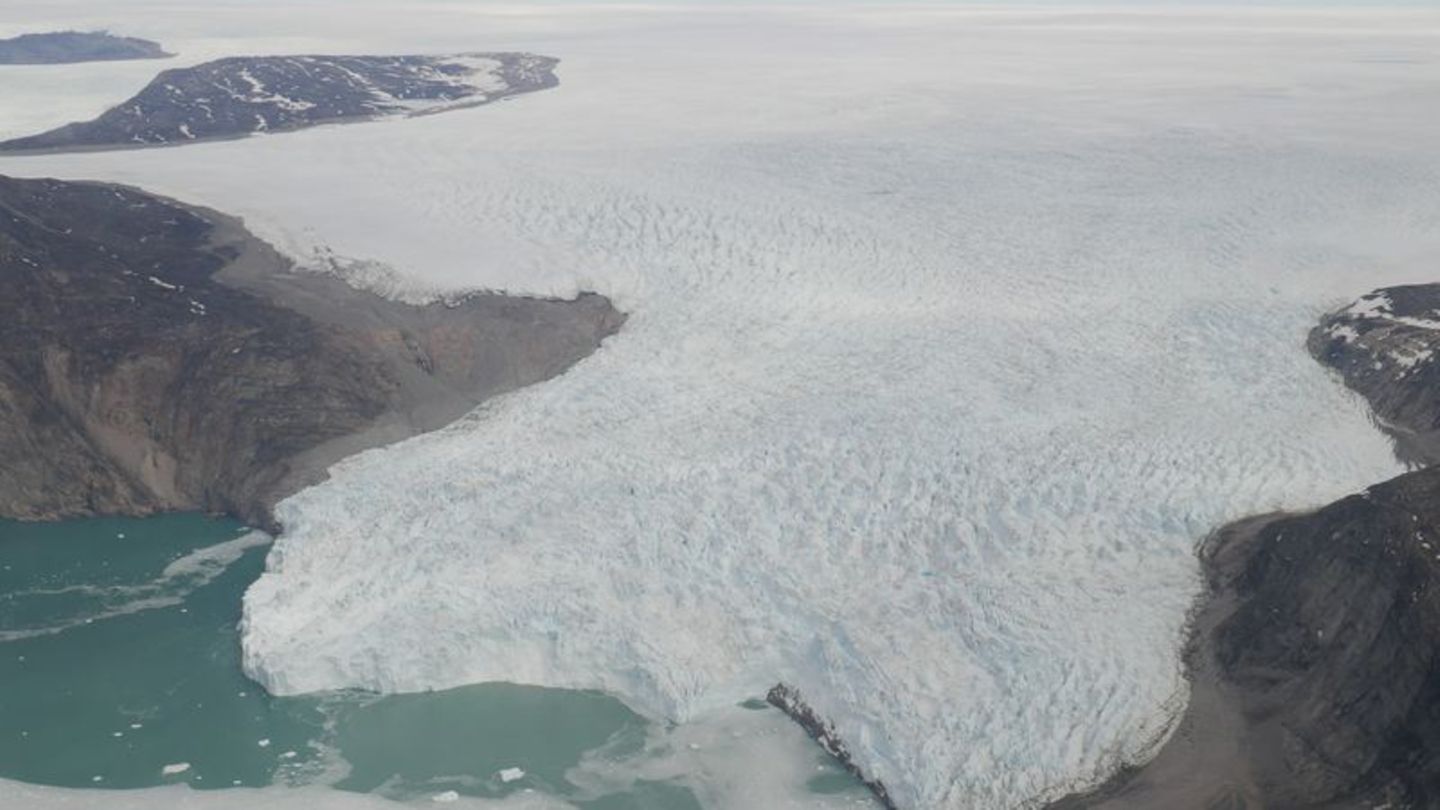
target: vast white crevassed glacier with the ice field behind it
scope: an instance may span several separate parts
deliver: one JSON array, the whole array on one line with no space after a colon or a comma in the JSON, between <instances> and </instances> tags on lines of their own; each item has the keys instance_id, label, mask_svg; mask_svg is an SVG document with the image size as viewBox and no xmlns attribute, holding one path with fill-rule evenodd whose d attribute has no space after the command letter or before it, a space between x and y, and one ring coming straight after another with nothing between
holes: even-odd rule
<instances>
[{"instance_id":1,"label":"vast white crevassed glacier with the ice field behind it","mask_svg":"<svg viewBox=\"0 0 1440 810\"><path fill-rule=\"evenodd\" d=\"M181 59L562 59L444 115L0 159L395 295L631 314L281 506L243 634L274 692L513 680L704 722L786 682L900 807L1034 806L1166 734L1207 532L1400 470L1303 339L1440 277L1440 13L17 6ZM4 135L72 112L22 102L0 72Z\"/></svg>"}]
</instances>

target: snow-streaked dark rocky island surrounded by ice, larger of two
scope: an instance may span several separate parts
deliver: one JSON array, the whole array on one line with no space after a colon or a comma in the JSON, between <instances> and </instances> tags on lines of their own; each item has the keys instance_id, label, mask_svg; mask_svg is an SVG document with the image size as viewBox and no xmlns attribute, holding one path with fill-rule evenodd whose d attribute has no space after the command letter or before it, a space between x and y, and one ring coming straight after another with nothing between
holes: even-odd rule
<instances>
[{"instance_id":1,"label":"snow-streaked dark rocky island surrounded by ice, larger of two","mask_svg":"<svg viewBox=\"0 0 1440 810\"><path fill-rule=\"evenodd\" d=\"M166 71L94 121L0 141L0 150L183 144L432 114L554 86L556 62L533 53L233 56Z\"/></svg>"}]
</instances>

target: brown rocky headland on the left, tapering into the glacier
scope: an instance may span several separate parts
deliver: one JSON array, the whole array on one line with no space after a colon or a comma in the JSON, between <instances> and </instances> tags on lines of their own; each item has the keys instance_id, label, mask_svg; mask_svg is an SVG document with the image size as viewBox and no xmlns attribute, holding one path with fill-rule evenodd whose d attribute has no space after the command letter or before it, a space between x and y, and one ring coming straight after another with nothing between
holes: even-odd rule
<instances>
[{"instance_id":1,"label":"brown rocky headland on the left, tapering into the glacier","mask_svg":"<svg viewBox=\"0 0 1440 810\"><path fill-rule=\"evenodd\" d=\"M328 464L554 376L622 321L599 295L399 304L215 212L0 177L0 516L271 526Z\"/></svg>"}]
</instances>

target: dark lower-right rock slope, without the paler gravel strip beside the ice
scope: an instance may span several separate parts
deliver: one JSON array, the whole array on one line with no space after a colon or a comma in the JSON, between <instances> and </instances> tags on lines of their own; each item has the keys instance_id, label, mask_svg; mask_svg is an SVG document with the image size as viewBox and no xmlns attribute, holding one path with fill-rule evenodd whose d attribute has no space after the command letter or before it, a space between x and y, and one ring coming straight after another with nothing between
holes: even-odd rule
<instances>
[{"instance_id":1,"label":"dark lower-right rock slope, without the paler gravel strip beside the ice","mask_svg":"<svg viewBox=\"0 0 1440 810\"><path fill-rule=\"evenodd\" d=\"M1440 468L1225 540L1214 656L1256 806L1440 803Z\"/></svg>"}]
</instances>

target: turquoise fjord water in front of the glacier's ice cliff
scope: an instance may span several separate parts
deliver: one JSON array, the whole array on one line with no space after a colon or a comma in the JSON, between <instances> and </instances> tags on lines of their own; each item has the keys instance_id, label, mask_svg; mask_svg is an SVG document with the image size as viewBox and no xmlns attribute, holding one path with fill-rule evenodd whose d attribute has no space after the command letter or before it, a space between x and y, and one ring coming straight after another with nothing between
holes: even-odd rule
<instances>
[{"instance_id":1,"label":"turquoise fjord water in front of the glacier's ice cliff","mask_svg":"<svg viewBox=\"0 0 1440 810\"><path fill-rule=\"evenodd\" d=\"M595 794L588 754L641 755L618 700L490 683L423 695L272 698L239 664L264 538L197 515L0 522L0 777L95 788L334 784L395 798L533 788L585 810L697 810L674 781ZM763 706L763 705L762 705ZM765 709L773 711L773 709ZM501 778L518 768L523 775ZM816 748L814 794L863 788Z\"/></svg>"}]
</instances>

